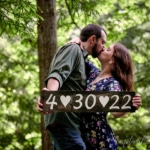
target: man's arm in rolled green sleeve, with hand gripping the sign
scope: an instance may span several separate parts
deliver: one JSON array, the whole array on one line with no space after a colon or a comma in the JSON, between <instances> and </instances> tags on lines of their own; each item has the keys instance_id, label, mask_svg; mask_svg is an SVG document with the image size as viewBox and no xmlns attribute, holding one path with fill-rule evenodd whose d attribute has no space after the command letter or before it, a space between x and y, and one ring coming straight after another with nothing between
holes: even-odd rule
<instances>
[{"instance_id":1,"label":"man's arm in rolled green sleeve, with hand gripping the sign","mask_svg":"<svg viewBox=\"0 0 150 150\"><path fill-rule=\"evenodd\" d=\"M61 88L63 82L69 77L74 65L78 62L78 56L80 55L80 49L78 46L72 49L72 45L62 47L57 53L57 58L54 59L52 69L46 79L45 91L57 91ZM69 63L70 62L70 63ZM38 98L37 109L43 112L43 104L41 98ZM45 113L45 112L43 112Z\"/></svg>"}]
</instances>

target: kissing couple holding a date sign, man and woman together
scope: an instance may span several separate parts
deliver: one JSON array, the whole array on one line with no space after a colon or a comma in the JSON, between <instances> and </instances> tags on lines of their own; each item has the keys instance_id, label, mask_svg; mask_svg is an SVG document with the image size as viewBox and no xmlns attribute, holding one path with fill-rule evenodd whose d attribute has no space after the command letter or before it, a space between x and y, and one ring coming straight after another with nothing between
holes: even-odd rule
<instances>
[{"instance_id":1,"label":"kissing couple holding a date sign, man and woman together","mask_svg":"<svg viewBox=\"0 0 150 150\"><path fill-rule=\"evenodd\" d=\"M80 33L80 46L66 44L54 56L43 90L57 91L132 91L132 63L126 47L116 43L104 48L106 31L95 24ZM101 72L87 56L97 57ZM41 99L38 110L43 112ZM133 106L141 106L140 96ZM44 113L44 112L43 112ZM124 112L113 113L121 117ZM57 112L45 114L45 128L54 142L54 150L116 150L117 142L107 122L107 113Z\"/></svg>"}]
</instances>

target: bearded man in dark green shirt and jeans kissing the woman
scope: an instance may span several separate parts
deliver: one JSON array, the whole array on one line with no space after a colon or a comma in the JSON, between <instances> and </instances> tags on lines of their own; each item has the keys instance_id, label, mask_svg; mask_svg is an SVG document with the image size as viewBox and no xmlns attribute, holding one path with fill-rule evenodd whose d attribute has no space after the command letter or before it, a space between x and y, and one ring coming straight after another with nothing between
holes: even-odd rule
<instances>
[{"instance_id":1,"label":"bearded man in dark green shirt and jeans kissing the woman","mask_svg":"<svg viewBox=\"0 0 150 150\"><path fill-rule=\"evenodd\" d=\"M45 90L84 91L86 88L87 55L97 57L104 48L106 31L95 24L84 27L80 33L81 47L77 44L66 44L54 56ZM40 98L38 110L43 112ZM81 118L79 113L55 112L45 114L45 127L49 131L56 150L86 150L80 132Z\"/></svg>"}]
</instances>

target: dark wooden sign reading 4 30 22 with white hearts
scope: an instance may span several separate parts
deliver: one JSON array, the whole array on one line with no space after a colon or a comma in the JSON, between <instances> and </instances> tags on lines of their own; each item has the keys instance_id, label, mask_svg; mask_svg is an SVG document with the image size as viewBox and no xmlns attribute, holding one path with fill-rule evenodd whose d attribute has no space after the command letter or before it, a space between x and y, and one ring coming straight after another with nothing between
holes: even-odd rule
<instances>
[{"instance_id":1,"label":"dark wooden sign reading 4 30 22 with white hearts","mask_svg":"<svg viewBox=\"0 0 150 150\"><path fill-rule=\"evenodd\" d=\"M134 112L135 92L42 91L45 112Z\"/></svg>"}]
</instances>

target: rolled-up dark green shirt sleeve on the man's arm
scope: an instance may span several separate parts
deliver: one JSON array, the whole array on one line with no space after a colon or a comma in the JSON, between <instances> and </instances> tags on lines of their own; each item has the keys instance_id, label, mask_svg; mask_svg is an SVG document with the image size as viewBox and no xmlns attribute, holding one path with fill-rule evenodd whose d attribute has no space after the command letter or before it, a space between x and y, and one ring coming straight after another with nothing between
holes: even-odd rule
<instances>
[{"instance_id":1,"label":"rolled-up dark green shirt sleeve on the man's arm","mask_svg":"<svg viewBox=\"0 0 150 150\"><path fill-rule=\"evenodd\" d=\"M55 78L59 81L59 88L61 88L76 65L79 64L79 55L81 55L81 50L78 45L72 44L61 47L52 60L45 83L47 84L50 78Z\"/></svg>"}]
</instances>

